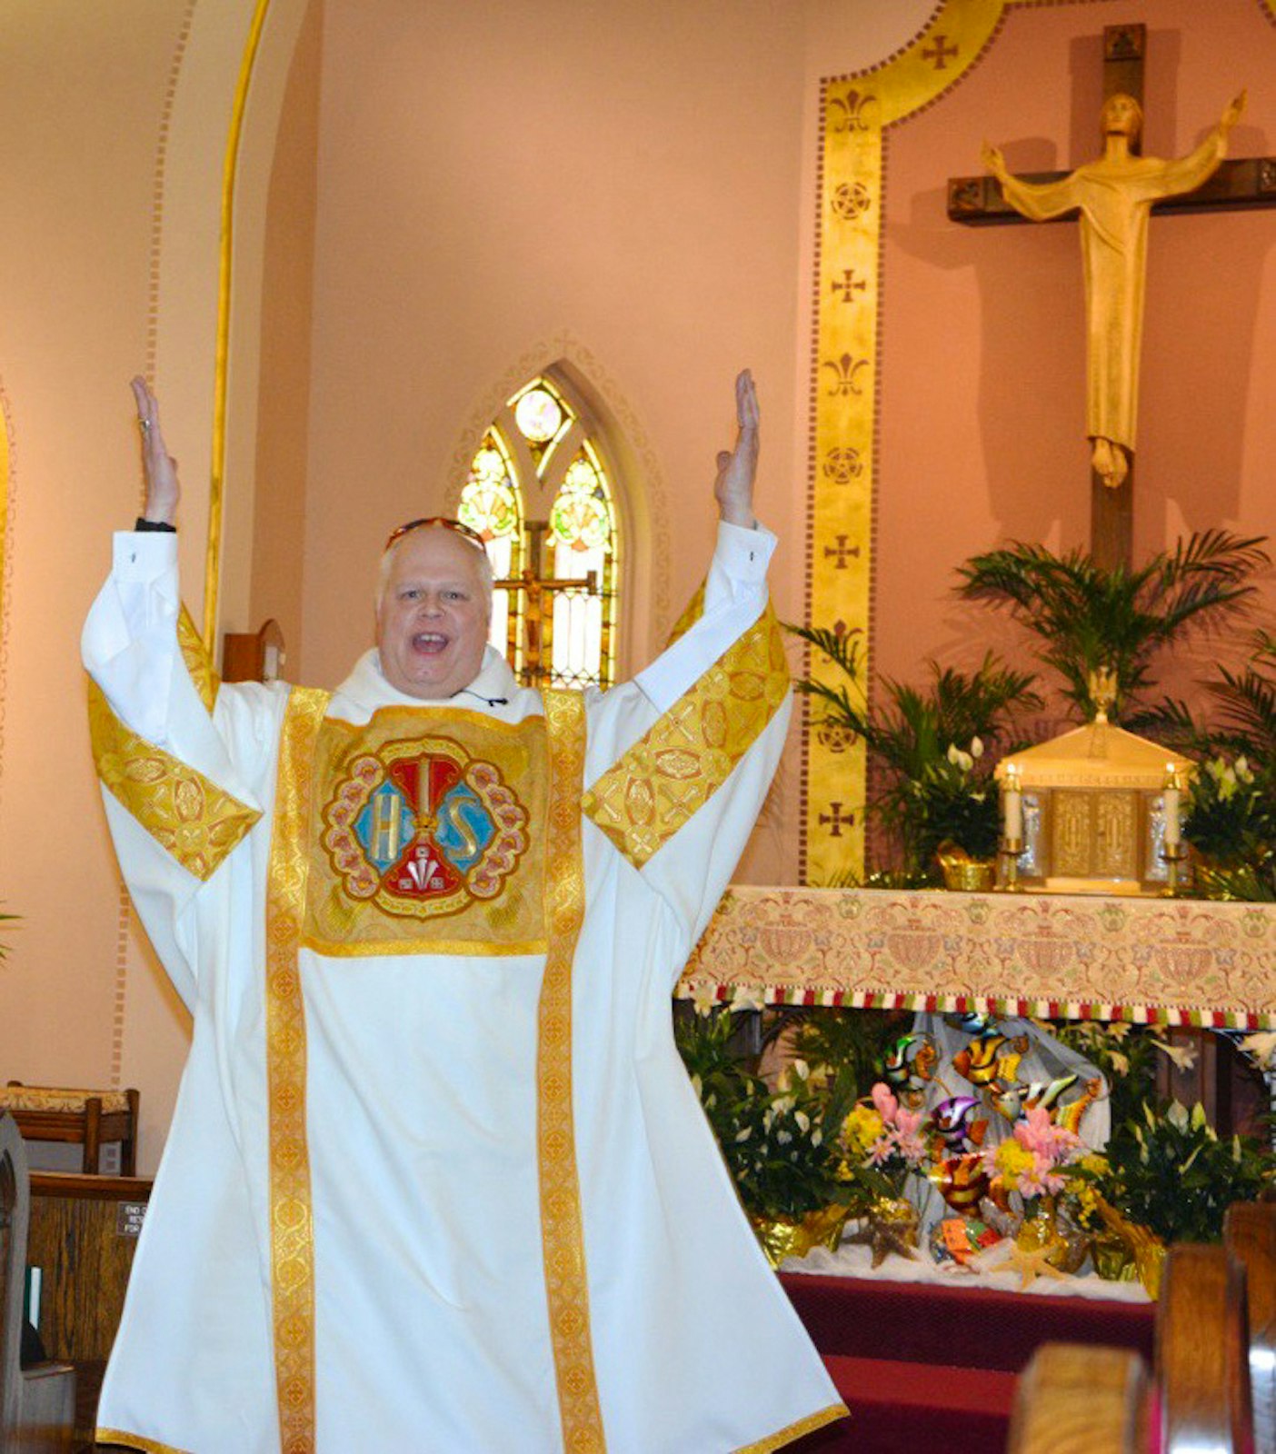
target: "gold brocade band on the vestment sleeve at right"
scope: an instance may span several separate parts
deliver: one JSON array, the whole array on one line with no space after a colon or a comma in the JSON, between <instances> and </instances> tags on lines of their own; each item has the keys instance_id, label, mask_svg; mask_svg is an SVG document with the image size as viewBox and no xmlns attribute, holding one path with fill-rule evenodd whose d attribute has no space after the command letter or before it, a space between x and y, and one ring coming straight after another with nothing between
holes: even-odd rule
<instances>
[{"instance_id":1,"label":"gold brocade band on the vestment sleeve at right","mask_svg":"<svg viewBox=\"0 0 1276 1454\"><path fill-rule=\"evenodd\" d=\"M762 616L586 792L584 811L642 865L722 787L789 686L783 637Z\"/></svg>"}]
</instances>

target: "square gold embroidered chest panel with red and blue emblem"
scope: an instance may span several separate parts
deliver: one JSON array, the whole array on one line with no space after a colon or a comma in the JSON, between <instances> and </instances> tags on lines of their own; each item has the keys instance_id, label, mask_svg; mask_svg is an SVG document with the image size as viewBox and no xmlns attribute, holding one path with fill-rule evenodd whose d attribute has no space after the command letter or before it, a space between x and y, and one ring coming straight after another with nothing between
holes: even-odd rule
<instances>
[{"instance_id":1,"label":"square gold embroidered chest panel with red and blue emblem","mask_svg":"<svg viewBox=\"0 0 1276 1454\"><path fill-rule=\"evenodd\" d=\"M544 954L544 717L384 708L324 721L302 942L320 954Z\"/></svg>"}]
</instances>

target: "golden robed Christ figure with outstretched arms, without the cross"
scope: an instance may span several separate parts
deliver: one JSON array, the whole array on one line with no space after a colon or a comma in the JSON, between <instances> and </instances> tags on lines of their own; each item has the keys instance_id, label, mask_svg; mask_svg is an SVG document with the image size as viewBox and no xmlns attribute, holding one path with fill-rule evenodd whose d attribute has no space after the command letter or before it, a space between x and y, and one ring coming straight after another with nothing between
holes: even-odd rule
<instances>
[{"instance_id":1,"label":"golden robed Christ figure with outstretched arms, without the cross","mask_svg":"<svg viewBox=\"0 0 1276 1454\"><path fill-rule=\"evenodd\" d=\"M984 144L984 164L1001 183L1006 201L1026 218L1042 222L1080 209L1086 433L1094 446L1094 471L1112 489L1125 480L1135 443L1148 214L1154 202L1209 180L1227 156L1228 134L1244 106L1241 92L1195 151L1166 161L1134 151L1142 126L1142 108L1134 96L1109 96L1100 112L1103 156L1057 182L1013 176L998 148Z\"/></svg>"}]
</instances>

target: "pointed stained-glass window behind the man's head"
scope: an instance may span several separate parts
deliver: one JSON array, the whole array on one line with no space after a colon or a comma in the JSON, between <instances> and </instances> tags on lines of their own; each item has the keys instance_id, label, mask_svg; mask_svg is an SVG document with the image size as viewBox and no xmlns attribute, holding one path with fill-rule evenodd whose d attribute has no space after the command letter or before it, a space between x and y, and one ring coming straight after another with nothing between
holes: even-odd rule
<instances>
[{"instance_id":1,"label":"pointed stained-glass window behind the man's head","mask_svg":"<svg viewBox=\"0 0 1276 1454\"><path fill-rule=\"evenodd\" d=\"M528 685L610 686L621 529L602 429L554 369L517 388L469 464L459 518L497 577L491 644Z\"/></svg>"}]
</instances>

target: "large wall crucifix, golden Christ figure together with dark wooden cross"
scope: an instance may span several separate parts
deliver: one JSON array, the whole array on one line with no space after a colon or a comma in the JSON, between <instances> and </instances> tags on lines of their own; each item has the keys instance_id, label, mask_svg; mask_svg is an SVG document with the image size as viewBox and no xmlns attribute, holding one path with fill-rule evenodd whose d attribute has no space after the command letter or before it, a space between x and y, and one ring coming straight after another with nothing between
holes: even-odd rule
<instances>
[{"instance_id":1,"label":"large wall crucifix, golden Christ figure together with dark wooden cross","mask_svg":"<svg viewBox=\"0 0 1276 1454\"><path fill-rule=\"evenodd\" d=\"M1276 158L1222 161L1241 93L1190 156L1139 154L1144 25L1103 32L1105 154L1071 173L1014 177L985 147L991 176L952 177L948 215L958 222L1054 221L1081 217L1087 310L1087 435L1093 441L1090 551L1097 564L1131 564L1134 429L1147 218L1151 211L1224 211L1276 205Z\"/></svg>"}]
</instances>

